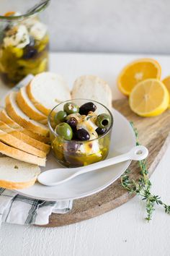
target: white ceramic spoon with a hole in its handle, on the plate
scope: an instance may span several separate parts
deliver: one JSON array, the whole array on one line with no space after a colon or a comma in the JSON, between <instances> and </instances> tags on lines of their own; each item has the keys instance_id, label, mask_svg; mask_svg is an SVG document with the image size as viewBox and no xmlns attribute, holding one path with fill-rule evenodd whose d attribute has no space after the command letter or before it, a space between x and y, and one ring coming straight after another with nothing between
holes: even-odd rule
<instances>
[{"instance_id":1,"label":"white ceramic spoon with a hole in its handle, on the plate","mask_svg":"<svg viewBox=\"0 0 170 256\"><path fill-rule=\"evenodd\" d=\"M128 160L140 161L148 156L148 149L144 146L135 146L128 153L117 155L113 158L106 159L97 163L91 163L89 166L76 168L55 168L49 171L42 172L37 180L45 186L56 186L63 182L68 182L81 174L86 174L90 171L95 171L100 168L112 166L116 163L122 163ZM114 170L113 170L114 171Z\"/></svg>"}]
</instances>

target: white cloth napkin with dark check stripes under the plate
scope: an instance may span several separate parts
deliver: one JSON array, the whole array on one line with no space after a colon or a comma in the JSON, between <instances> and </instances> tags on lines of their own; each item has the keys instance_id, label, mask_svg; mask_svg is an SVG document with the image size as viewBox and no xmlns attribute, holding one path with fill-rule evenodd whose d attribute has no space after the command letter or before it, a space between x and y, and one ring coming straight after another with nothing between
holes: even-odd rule
<instances>
[{"instance_id":1,"label":"white cloth napkin with dark check stripes under the plate","mask_svg":"<svg viewBox=\"0 0 170 256\"><path fill-rule=\"evenodd\" d=\"M72 204L71 200L59 202L36 200L0 188L0 226L1 222L45 225L49 223L51 213L68 213Z\"/></svg>"}]
</instances>

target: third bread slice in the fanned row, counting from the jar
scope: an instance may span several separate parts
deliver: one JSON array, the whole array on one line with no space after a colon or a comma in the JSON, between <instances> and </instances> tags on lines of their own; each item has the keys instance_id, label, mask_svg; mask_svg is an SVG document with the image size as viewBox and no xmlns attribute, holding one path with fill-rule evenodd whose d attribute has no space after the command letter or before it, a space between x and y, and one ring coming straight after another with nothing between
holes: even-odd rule
<instances>
[{"instance_id":1,"label":"third bread slice in the fanned row, counting from the jar","mask_svg":"<svg viewBox=\"0 0 170 256\"><path fill-rule=\"evenodd\" d=\"M35 133L48 136L49 129L44 124L30 119L17 105L17 93L9 93L6 97L6 112L7 114L22 127L34 131Z\"/></svg>"}]
</instances>

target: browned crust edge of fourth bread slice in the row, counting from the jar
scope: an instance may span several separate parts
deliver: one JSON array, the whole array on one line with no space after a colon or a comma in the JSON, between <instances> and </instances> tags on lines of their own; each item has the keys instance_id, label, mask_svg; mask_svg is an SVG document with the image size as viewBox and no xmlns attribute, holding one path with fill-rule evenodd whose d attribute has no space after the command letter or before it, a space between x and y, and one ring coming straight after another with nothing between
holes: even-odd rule
<instances>
[{"instance_id":1,"label":"browned crust edge of fourth bread slice in the row, counting from the jar","mask_svg":"<svg viewBox=\"0 0 170 256\"><path fill-rule=\"evenodd\" d=\"M0 120L4 121L4 123L8 124L9 127L12 127L13 129L16 129L17 131L22 132L24 135L27 135L34 140L38 140L40 142L45 142L45 143L50 142L49 137L37 135L37 133L29 131L28 129L21 127L19 124L17 124L14 120L12 120L9 117L9 115L6 113L6 111L4 109L0 111Z\"/></svg>"}]
</instances>

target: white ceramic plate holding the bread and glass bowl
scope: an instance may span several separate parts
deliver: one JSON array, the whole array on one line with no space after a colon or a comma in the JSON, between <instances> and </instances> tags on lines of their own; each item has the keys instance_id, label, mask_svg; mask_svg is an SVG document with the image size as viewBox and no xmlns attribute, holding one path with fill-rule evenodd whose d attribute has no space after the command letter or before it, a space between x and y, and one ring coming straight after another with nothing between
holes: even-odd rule
<instances>
[{"instance_id":1,"label":"white ceramic plate holding the bread and glass bowl","mask_svg":"<svg viewBox=\"0 0 170 256\"><path fill-rule=\"evenodd\" d=\"M118 111L113 110L112 113L114 116L114 126L112 129L110 150L107 158L126 153L136 144L135 133L130 122ZM30 188L19 189L17 192L27 197L50 201L73 200L87 197L105 189L115 182L129 165L130 161L126 161L115 166L102 168L99 171L83 174L72 179L70 182L58 185L57 187L45 187L42 184L36 183ZM53 155L50 155L46 167L42 168L42 171L57 168L59 166L61 168L61 165L59 165Z\"/></svg>"}]
</instances>

